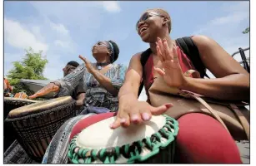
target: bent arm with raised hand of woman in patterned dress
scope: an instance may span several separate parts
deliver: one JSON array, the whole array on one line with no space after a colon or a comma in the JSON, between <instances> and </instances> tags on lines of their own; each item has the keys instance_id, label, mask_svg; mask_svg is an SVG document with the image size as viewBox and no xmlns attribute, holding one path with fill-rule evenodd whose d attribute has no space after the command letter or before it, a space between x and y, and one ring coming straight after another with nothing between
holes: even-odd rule
<instances>
[{"instance_id":1,"label":"bent arm with raised hand of woman in patterned dress","mask_svg":"<svg viewBox=\"0 0 256 166\"><path fill-rule=\"evenodd\" d=\"M113 79L104 76L102 73L95 69L92 70L91 74L99 82L100 85L108 90L108 92L110 92L113 96L117 96L120 87L123 85L126 70L127 69L125 66L118 65L114 71L115 76L113 77Z\"/></svg>"}]
</instances>

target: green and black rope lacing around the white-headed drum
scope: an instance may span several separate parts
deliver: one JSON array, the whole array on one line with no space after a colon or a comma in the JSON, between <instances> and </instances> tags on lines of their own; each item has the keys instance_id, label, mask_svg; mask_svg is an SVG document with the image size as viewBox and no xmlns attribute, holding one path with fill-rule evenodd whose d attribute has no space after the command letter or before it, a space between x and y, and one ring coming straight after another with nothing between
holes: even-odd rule
<instances>
[{"instance_id":1,"label":"green and black rope lacing around the white-headed drum","mask_svg":"<svg viewBox=\"0 0 256 166\"><path fill-rule=\"evenodd\" d=\"M150 137L138 140L132 144L125 144L121 148L113 147L106 149L83 149L76 144L78 134L73 137L68 147L68 158L73 164L92 164L95 160L100 160L103 164L115 164L116 160L122 154L128 159L127 164L133 164L135 161L142 162L151 156L158 154L160 148L164 149L173 142L178 134L178 121L164 115L166 123L162 129ZM150 150L150 153L141 156L143 148Z\"/></svg>"}]
</instances>

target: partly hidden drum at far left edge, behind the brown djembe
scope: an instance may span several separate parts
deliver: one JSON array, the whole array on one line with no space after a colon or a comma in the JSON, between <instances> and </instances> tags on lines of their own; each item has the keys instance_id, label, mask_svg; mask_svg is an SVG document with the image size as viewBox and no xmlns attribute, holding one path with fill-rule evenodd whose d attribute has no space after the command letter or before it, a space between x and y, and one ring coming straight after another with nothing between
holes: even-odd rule
<instances>
[{"instance_id":1,"label":"partly hidden drum at far left edge, behind the brown djembe","mask_svg":"<svg viewBox=\"0 0 256 166\"><path fill-rule=\"evenodd\" d=\"M17 109L24 105L30 105L33 103L38 103L37 100L28 100L20 99L13 97L4 97L3 98L3 121L7 118L11 110ZM5 123L3 125L3 150L6 151L8 147L13 144L13 141L16 139L16 135L13 134L13 125Z\"/></svg>"}]
</instances>

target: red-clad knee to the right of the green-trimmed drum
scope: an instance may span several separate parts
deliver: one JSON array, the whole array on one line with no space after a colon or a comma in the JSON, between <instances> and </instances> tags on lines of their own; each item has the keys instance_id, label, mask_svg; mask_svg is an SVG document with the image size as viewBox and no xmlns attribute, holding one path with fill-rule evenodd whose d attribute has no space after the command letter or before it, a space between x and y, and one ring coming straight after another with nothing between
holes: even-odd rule
<instances>
[{"instance_id":1,"label":"red-clad knee to the right of the green-trimmed drum","mask_svg":"<svg viewBox=\"0 0 256 166\"><path fill-rule=\"evenodd\" d=\"M241 164L232 136L215 119L192 113L178 119L177 150L185 163Z\"/></svg>"}]
</instances>

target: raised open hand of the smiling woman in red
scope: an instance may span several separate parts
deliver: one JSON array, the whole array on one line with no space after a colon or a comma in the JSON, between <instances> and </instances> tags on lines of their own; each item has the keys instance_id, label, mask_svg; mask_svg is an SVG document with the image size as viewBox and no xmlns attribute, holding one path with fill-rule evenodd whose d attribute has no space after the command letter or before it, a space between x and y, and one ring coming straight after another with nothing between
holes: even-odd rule
<instances>
[{"instance_id":1,"label":"raised open hand of the smiling woman in red","mask_svg":"<svg viewBox=\"0 0 256 166\"><path fill-rule=\"evenodd\" d=\"M165 39L162 41L159 37L156 45L158 58L163 64L163 69L154 67L154 70L157 71L160 76L163 76L163 80L167 85L177 88L183 87L187 80L179 65L177 46L173 46L173 48L170 49L168 42Z\"/></svg>"}]
</instances>

